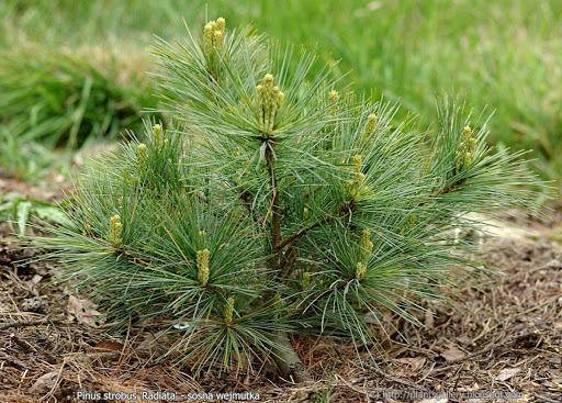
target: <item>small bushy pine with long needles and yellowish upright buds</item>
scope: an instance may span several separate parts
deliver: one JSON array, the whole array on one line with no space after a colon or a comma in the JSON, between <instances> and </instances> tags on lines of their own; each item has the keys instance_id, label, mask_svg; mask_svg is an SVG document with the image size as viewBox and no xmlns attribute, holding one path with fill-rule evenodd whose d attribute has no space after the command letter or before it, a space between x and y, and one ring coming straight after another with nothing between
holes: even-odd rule
<instances>
[{"instance_id":1,"label":"small bushy pine with long needles and yellowish upright buds","mask_svg":"<svg viewBox=\"0 0 562 403\"><path fill-rule=\"evenodd\" d=\"M97 158L63 204L74 226L36 239L112 323L166 329L164 358L303 378L289 335L373 351L373 322L418 323L420 299L475 266L454 239L469 213L529 199L520 155L451 102L423 133L330 66L311 77L310 53L223 19L200 37L155 47L171 123Z\"/></svg>"}]
</instances>

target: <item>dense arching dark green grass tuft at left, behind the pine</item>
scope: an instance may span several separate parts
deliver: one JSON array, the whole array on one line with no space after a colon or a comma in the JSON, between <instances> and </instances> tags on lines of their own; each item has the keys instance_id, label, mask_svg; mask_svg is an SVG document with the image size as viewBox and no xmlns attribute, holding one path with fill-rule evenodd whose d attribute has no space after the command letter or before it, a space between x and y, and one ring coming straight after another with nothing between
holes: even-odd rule
<instances>
[{"instance_id":1,"label":"dense arching dark green grass tuft at left, behind the pine","mask_svg":"<svg viewBox=\"0 0 562 403\"><path fill-rule=\"evenodd\" d=\"M88 137L139 127L142 108L155 105L146 83L134 77L121 82L115 60L104 60L101 70L92 57L36 47L1 53L2 132L18 142L74 148Z\"/></svg>"}]
</instances>

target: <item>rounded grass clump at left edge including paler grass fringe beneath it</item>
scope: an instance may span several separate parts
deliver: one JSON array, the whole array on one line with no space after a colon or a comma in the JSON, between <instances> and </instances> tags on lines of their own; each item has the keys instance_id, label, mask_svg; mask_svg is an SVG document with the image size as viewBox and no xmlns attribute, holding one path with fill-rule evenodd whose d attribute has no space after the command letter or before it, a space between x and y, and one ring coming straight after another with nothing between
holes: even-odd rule
<instances>
[{"instance_id":1,"label":"rounded grass clump at left edge including paler grass fringe beneath it","mask_svg":"<svg viewBox=\"0 0 562 403\"><path fill-rule=\"evenodd\" d=\"M50 51L37 45L0 53L0 167L37 178L54 148L76 149L140 126L156 107L148 80L98 47ZM50 158L49 158L50 156Z\"/></svg>"}]
</instances>

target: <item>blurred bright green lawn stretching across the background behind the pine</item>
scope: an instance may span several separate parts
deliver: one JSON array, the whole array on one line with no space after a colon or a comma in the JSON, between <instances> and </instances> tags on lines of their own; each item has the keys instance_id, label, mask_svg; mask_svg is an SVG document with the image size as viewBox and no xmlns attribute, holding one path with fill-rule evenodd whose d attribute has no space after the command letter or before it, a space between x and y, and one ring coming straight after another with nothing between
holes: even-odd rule
<instances>
[{"instance_id":1,"label":"blurred bright green lawn stretching across the background behind the pine","mask_svg":"<svg viewBox=\"0 0 562 403\"><path fill-rule=\"evenodd\" d=\"M173 37L182 19L200 26L223 15L286 43L338 59L353 89L401 99L406 112L435 121L439 94L495 111L492 139L532 148L547 177L562 177L562 2L401 1L4 1L4 46L25 37L78 46ZM54 30L53 27L57 29Z\"/></svg>"}]
</instances>

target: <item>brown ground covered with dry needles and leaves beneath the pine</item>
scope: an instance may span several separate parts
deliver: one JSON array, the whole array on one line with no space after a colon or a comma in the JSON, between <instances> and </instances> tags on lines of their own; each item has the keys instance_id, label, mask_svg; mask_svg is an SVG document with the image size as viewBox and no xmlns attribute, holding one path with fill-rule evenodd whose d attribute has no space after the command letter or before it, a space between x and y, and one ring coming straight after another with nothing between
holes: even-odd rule
<instances>
[{"instance_id":1,"label":"brown ground covered with dry needles and leaves beneath the pine","mask_svg":"<svg viewBox=\"0 0 562 403\"><path fill-rule=\"evenodd\" d=\"M533 224L529 236L486 240L482 259L501 272L474 273L446 301L427 303L424 328L395 320L376 365L349 343L295 337L314 380L294 384L234 373L194 380L189 369L150 363L149 333L89 326L95 311L52 281L56 265L21 264L36 251L18 248L3 228L0 402L79 402L79 391L252 392L265 402L493 402L512 393L513 402L562 402L562 248L550 240L558 231ZM445 391L457 395L430 398Z\"/></svg>"}]
</instances>

